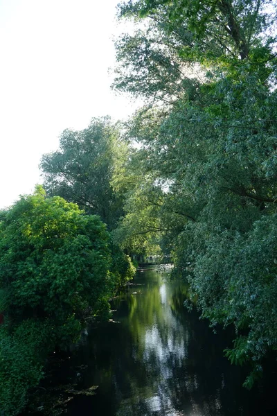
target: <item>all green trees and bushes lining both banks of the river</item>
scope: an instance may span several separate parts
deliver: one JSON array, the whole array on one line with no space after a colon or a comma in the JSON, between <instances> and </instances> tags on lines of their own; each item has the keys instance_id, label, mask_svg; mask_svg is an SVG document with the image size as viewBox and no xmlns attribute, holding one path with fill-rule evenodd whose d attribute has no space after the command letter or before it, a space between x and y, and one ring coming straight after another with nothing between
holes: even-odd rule
<instances>
[{"instance_id":1,"label":"all green trees and bushes lining both banks of the river","mask_svg":"<svg viewBox=\"0 0 277 416\"><path fill-rule=\"evenodd\" d=\"M113 88L143 105L64 130L43 187L0 214L5 416L88 314L108 318L131 258L170 257L186 306L234 327L225 354L246 388L276 360L276 1L130 0L118 18L134 31Z\"/></svg>"}]
</instances>

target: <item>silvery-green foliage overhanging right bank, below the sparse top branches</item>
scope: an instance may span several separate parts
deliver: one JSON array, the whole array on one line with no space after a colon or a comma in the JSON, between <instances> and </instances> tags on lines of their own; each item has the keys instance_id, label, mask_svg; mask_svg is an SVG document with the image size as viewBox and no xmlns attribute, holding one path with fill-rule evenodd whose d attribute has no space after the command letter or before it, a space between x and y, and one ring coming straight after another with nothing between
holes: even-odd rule
<instances>
[{"instance_id":1,"label":"silvery-green foliage overhanging right bank, below the sparse top branches","mask_svg":"<svg viewBox=\"0 0 277 416\"><path fill-rule=\"evenodd\" d=\"M144 134L143 118L136 139L142 133L139 152L150 160L152 189L145 196L139 184L144 210L139 215L129 203L123 229L133 215L137 234L143 232L143 212L160 224L175 274L190 281L203 315L213 325L233 323L248 332L247 348L242 354L238 344L235 354L252 361L256 372L277 346L277 122L276 93L257 86L255 73L249 78L246 85L224 79L201 87L192 102L179 101L155 139ZM150 164L141 162L148 178Z\"/></svg>"}]
</instances>

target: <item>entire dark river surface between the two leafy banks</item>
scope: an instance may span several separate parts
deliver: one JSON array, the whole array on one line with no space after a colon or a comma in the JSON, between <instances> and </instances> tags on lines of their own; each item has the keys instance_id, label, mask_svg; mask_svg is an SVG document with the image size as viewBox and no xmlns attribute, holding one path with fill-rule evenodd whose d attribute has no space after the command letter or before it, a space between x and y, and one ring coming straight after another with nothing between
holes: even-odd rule
<instances>
[{"instance_id":1,"label":"entire dark river surface between the two leafy banks","mask_svg":"<svg viewBox=\"0 0 277 416\"><path fill-rule=\"evenodd\" d=\"M134 283L113 301L116 322L91 329L66 364L78 388L99 386L93 397L75 396L67 415L276 415L258 388L242 388L245 374L224 358L232 336L186 311L182 284L155 270Z\"/></svg>"}]
</instances>

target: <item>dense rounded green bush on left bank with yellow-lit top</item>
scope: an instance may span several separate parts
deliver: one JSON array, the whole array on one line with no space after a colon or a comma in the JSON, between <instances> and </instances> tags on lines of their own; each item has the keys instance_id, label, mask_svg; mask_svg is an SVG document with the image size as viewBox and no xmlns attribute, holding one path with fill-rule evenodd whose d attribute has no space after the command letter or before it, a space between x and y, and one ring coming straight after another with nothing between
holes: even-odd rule
<instances>
[{"instance_id":1,"label":"dense rounded green bush on left bank with yellow-lit top","mask_svg":"<svg viewBox=\"0 0 277 416\"><path fill-rule=\"evenodd\" d=\"M127 259L124 259L127 261ZM98 216L84 215L42 187L24 196L0 223L1 410L16 415L42 378L54 347L78 340L84 318L105 315L118 275L109 272L109 234ZM124 278L129 277L126 267Z\"/></svg>"}]
</instances>

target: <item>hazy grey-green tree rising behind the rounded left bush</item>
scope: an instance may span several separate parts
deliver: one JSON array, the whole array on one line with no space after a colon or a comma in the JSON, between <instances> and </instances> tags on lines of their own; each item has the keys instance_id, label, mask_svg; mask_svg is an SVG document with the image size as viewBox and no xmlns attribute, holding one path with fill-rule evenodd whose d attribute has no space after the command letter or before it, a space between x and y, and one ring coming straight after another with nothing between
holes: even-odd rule
<instances>
[{"instance_id":1,"label":"hazy grey-green tree rising behind the rounded left bush","mask_svg":"<svg viewBox=\"0 0 277 416\"><path fill-rule=\"evenodd\" d=\"M111 179L116 159L126 152L118 125L108 117L92 119L81 131L64 130L60 149L42 157L44 187L48 196L75 202L87 214L99 215L109 229L123 214L122 198Z\"/></svg>"}]
</instances>

